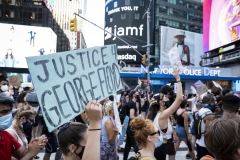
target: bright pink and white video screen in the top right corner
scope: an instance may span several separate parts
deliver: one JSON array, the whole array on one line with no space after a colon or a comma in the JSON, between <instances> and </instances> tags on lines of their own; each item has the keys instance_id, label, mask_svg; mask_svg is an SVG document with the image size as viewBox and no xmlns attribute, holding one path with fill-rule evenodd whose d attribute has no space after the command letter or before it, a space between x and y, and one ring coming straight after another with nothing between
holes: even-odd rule
<instances>
[{"instance_id":1,"label":"bright pink and white video screen in the top right corner","mask_svg":"<svg viewBox=\"0 0 240 160\"><path fill-rule=\"evenodd\" d=\"M239 0L204 0L204 52L239 40Z\"/></svg>"}]
</instances>

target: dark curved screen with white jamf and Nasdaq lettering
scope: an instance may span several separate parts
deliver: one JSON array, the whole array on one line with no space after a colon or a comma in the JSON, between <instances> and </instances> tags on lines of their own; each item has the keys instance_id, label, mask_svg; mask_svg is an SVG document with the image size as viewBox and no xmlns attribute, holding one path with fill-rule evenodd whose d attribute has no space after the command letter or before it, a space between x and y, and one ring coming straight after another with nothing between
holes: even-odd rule
<instances>
[{"instance_id":1,"label":"dark curved screen with white jamf and Nasdaq lettering","mask_svg":"<svg viewBox=\"0 0 240 160\"><path fill-rule=\"evenodd\" d=\"M147 15L146 8L149 0L107 0L105 2L105 29L113 35L105 32L104 45L116 44L118 59L126 63L140 64L139 56L128 44L141 54L145 54L147 48ZM154 0L151 3L150 43L154 42ZM122 38L128 44L117 39ZM154 54L154 47L151 47Z\"/></svg>"}]
</instances>

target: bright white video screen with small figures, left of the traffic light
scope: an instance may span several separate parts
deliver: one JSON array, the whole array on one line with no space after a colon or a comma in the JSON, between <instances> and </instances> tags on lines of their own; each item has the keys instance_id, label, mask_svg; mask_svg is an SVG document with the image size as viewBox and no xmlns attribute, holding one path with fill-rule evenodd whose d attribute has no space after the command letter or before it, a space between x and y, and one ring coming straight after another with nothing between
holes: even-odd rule
<instances>
[{"instance_id":1,"label":"bright white video screen with small figures, left of the traffic light","mask_svg":"<svg viewBox=\"0 0 240 160\"><path fill-rule=\"evenodd\" d=\"M0 23L0 67L27 68L25 57L56 53L51 28Z\"/></svg>"}]
</instances>

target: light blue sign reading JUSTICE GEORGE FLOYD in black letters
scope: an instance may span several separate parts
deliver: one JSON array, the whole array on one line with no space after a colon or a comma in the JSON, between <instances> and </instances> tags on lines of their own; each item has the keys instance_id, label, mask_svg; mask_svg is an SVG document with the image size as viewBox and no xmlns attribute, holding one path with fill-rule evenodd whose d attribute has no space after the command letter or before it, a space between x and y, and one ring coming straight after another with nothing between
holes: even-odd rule
<instances>
[{"instance_id":1,"label":"light blue sign reading JUSTICE GEORGE FLOYD in black letters","mask_svg":"<svg viewBox=\"0 0 240 160\"><path fill-rule=\"evenodd\" d=\"M122 89L116 45L26 59L49 132Z\"/></svg>"}]
</instances>

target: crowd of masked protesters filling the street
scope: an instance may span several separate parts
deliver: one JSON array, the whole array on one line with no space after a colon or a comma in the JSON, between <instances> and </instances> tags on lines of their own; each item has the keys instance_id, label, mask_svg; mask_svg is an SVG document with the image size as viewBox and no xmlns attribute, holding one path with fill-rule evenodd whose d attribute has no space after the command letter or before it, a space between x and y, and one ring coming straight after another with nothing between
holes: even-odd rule
<instances>
[{"instance_id":1,"label":"crowd of masked protesters filling the street","mask_svg":"<svg viewBox=\"0 0 240 160\"><path fill-rule=\"evenodd\" d=\"M240 159L240 98L230 89L183 95L177 69L177 91L163 86L160 93L123 91L101 102L91 100L72 121L49 132L31 84L11 86L0 74L0 159L50 160L175 160L181 142L186 159ZM125 147L118 144L114 107L118 108ZM125 120L128 119L127 123ZM124 130L124 129L123 129ZM131 148L136 153L129 157ZM167 156L168 155L168 156Z\"/></svg>"}]
</instances>

